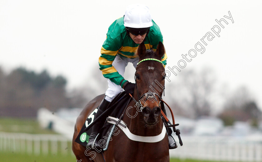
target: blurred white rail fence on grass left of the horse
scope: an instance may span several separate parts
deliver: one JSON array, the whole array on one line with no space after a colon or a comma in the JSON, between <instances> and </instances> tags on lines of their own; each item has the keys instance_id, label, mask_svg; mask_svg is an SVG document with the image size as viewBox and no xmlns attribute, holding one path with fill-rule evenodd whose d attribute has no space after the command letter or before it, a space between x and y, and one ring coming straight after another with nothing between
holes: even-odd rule
<instances>
[{"instance_id":1,"label":"blurred white rail fence on grass left of the horse","mask_svg":"<svg viewBox=\"0 0 262 162\"><path fill-rule=\"evenodd\" d=\"M66 139L62 135L0 132L1 152L13 151L30 155L57 155L58 153L62 155L74 155L71 149L71 142L71 139Z\"/></svg>"}]
</instances>

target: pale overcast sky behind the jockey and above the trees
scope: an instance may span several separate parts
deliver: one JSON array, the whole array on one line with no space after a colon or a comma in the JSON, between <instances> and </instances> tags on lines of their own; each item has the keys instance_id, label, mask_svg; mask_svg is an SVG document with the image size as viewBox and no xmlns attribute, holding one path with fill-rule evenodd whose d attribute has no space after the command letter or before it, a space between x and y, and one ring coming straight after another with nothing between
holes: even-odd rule
<instances>
[{"instance_id":1,"label":"pale overcast sky behind the jockey and above the trees","mask_svg":"<svg viewBox=\"0 0 262 162\"><path fill-rule=\"evenodd\" d=\"M19 66L37 72L47 69L53 76L65 76L68 88L84 86L91 71L99 68L109 25L124 15L130 2L1 0L0 66L6 72ZM148 5L162 31L166 70L178 66L181 55L195 49L214 25L219 26L215 20L224 18L228 24L222 22L220 37L213 33L207 45L201 42L205 52L197 52L181 72L211 68L231 90L247 86L262 106L262 1L132 1L136 2ZM224 17L229 11L234 23Z\"/></svg>"}]
</instances>

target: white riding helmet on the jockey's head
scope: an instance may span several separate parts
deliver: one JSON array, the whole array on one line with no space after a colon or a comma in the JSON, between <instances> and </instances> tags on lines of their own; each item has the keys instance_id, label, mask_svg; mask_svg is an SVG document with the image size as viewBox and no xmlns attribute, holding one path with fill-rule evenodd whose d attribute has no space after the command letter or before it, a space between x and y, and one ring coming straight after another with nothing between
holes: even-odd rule
<instances>
[{"instance_id":1,"label":"white riding helmet on the jockey's head","mask_svg":"<svg viewBox=\"0 0 262 162\"><path fill-rule=\"evenodd\" d=\"M128 6L124 15L124 26L132 28L153 26L149 8L141 4Z\"/></svg>"}]
</instances>

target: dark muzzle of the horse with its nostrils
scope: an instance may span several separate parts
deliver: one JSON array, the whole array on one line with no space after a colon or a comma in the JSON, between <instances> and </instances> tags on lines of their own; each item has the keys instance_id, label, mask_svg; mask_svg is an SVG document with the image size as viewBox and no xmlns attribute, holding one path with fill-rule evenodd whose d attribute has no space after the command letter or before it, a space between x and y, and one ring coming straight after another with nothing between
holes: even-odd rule
<instances>
[{"instance_id":1,"label":"dark muzzle of the horse with its nostrils","mask_svg":"<svg viewBox=\"0 0 262 162\"><path fill-rule=\"evenodd\" d=\"M142 110L144 121L148 125L155 125L158 122L158 116L160 115L160 113L161 109L158 106L154 107L153 109L146 106Z\"/></svg>"}]
</instances>

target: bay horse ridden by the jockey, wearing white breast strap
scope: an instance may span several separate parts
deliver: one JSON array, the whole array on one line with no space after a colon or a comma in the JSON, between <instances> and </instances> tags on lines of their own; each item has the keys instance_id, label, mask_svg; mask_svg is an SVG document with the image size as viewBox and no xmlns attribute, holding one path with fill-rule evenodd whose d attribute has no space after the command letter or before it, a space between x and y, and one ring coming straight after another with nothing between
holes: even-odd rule
<instances>
[{"instance_id":1,"label":"bay horse ridden by the jockey, wearing white breast strap","mask_svg":"<svg viewBox=\"0 0 262 162\"><path fill-rule=\"evenodd\" d=\"M156 51L146 50L144 43L141 43L137 49L139 63L136 67L133 100L127 107L122 120L127 125L130 132L134 135L148 137L158 136L165 130L161 118L161 97L163 88L156 91L153 84L164 87L165 68L161 58L165 53L165 48L159 42ZM157 83L156 83L157 82ZM152 93L153 92L153 93ZM143 96L143 97L142 97ZM146 97L145 97L146 96ZM164 134L163 139L158 142L141 142L130 140L127 135L121 131L112 136L108 149L103 154L95 150L88 150L84 146L75 142L83 124L89 114L99 106L104 95L95 97L90 101L78 116L73 135L72 150L77 161L82 162L167 162L169 161L168 136ZM154 100L152 100L152 98ZM138 102L135 102L138 101ZM137 103L140 103L141 111L137 109ZM142 109L143 108L143 109ZM163 133L162 133L163 134Z\"/></svg>"}]
</instances>

